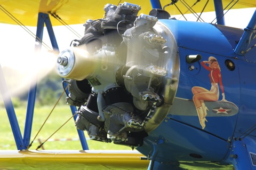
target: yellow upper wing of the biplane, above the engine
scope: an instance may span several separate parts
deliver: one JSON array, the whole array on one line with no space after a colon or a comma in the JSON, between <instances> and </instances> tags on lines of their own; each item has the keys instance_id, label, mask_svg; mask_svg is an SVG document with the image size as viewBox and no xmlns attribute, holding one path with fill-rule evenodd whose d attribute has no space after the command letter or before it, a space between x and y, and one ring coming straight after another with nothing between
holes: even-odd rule
<instances>
[{"instance_id":1,"label":"yellow upper wing of the biplane, above the engine","mask_svg":"<svg viewBox=\"0 0 256 170\"><path fill-rule=\"evenodd\" d=\"M137 0L0 0L0 23L17 24L14 22L6 12L10 12L15 18L17 18L23 25L36 26L38 12L51 12L57 13L59 17L68 23L77 24L84 23L87 19L99 19L103 17L105 11L103 11L104 5L107 3L118 5L119 3L129 2L141 6L139 13L148 14L152 9L150 1L137 1ZM170 0L161 0L162 7L169 4ZM183 1L182 1L183 2ZM189 6L193 6L196 0L186 1ZM200 13L207 0L201 0L194 5L193 10ZM223 7L227 6L231 0L222 0ZM188 9L180 2L176 3L182 13L188 11ZM234 6L234 9L256 7L256 1L252 0L240 0ZM6 11L5 11L6 10ZM180 14L174 5L167 6L165 8L171 15ZM214 11L213 0L210 0L207 4L204 12ZM187 13L190 13L189 11ZM61 25L58 20L52 19L52 25Z\"/></svg>"}]
</instances>

